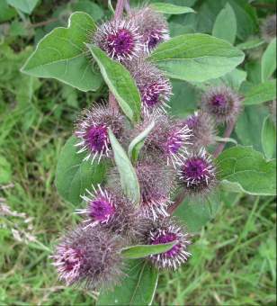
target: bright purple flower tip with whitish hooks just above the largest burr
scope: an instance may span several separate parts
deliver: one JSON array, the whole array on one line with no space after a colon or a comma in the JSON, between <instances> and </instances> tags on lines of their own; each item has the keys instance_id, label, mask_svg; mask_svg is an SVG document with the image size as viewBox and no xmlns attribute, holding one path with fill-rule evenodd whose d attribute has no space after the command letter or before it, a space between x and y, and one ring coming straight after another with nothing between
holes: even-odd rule
<instances>
[{"instance_id":1,"label":"bright purple flower tip with whitish hooks just above the largest burr","mask_svg":"<svg viewBox=\"0 0 277 306\"><path fill-rule=\"evenodd\" d=\"M83 195L82 199L87 206L85 209L77 210L77 212L86 215L86 221L89 225L108 223L116 211L116 203L112 199L112 194L103 190L100 185L98 185L98 190L94 188L94 193L87 189L86 193L87 195Z\"/></svg>"}]
</instances>

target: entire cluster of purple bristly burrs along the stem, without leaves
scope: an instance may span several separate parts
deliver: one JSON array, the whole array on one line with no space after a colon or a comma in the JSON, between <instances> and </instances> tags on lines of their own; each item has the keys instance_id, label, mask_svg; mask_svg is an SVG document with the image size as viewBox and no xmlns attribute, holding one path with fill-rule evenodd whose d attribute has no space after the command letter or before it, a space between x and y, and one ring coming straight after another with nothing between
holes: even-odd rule
<instances>
[{"instance_id":1,"label":"entire cluster of purple bristly burrs along the stem, without leaves","mask_svg":"<svg viewBox=\"0 0 277 306\"><path fill-rule=\"evenodd\" d=\"M172 85L147 61L149 53L168 39L165 18L150 7L103 23L94 33L93 43L130 71L139 88L142 112L141 121L131 126L119 110L102 103L85 109L76 121L77 153L85 154L92 166L113 166L102 185L81 194L83 208L76 212L83 221L56 248L54 265L67 284L116 283L124 266L121 249L130 245L174 242L166 252L147 257L157 268L176 269L190 256L190 235L171 216L171 199L180 189L188 197L203 197L214 190L217 170L206 147L215 143L216 125L233 121L240 104L226 86L213 87L203 94L199 111L184 120L169 116ZM127 149L149 126L152 129L133 163L140 188L138 207L122 193L109 130Z\"/></svg>"}]
</instances>

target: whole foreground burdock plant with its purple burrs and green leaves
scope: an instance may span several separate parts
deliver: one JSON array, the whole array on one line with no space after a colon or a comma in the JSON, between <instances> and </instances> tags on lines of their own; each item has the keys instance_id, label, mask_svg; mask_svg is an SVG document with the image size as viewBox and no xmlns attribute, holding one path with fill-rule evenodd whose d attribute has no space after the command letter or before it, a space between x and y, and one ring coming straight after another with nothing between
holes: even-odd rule
<instances>
[{"instance_id":1,"label":"whole foreground burdock plant with its purple burrs and green leaves","mask_svg":"<svg viewBox=\"0 0 277 306\"><path fill-rule=\"evenodd\" d=\"M163 13L183 12L193 10L119 0L111 20L97 25L74 13L22 68L85 92L109 89L76 114L58 158L58 192L76 206L79 222L52 255L59 279L100 291L100 304L150 304L159 272L185 274L192 232L214 215L222 188L274 193L272 160L250 147L224 150L236 143L243 101L250 105L255 95L253 88L254 94L239 93L234 81L244 53L208 34L170 38ZM185 81L181 92L191 83L201 96L194 109L175 116L173 78ZM254 103L262 99L257 93ZM189 95L178 99L190 103Z\"/></svg>"}]
</instances>

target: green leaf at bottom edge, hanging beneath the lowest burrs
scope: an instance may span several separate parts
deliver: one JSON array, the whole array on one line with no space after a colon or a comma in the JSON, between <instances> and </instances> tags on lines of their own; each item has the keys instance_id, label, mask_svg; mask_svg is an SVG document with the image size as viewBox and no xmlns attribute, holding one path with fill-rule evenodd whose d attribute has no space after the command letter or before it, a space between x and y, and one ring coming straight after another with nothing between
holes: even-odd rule
<instances>
[{"instance_id":1,"label":"green leaf at bottom edge, hanging beneath the lowest burrs","mask_svg":"<svg viewBox=\"0 0 277 306\"><path fill-rule=\"evenodd\" d=\"M102 292L96 305L151 305L158 271L145 260L130 260L126 277L111 292Z\"/></svg>"}]
</instances>

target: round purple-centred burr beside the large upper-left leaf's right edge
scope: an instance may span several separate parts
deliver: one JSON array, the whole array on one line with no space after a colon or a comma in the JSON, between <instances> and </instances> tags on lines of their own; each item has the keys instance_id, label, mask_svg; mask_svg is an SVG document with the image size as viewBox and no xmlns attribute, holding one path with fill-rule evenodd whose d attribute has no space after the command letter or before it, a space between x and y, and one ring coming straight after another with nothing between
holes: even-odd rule
<instances>
[{"instance_id":1,"label":"round purple-centred burr beside the large upper-left leaf's right edge","mask_svg":"<svg viewBox=\"0 0 277 306\"><path fill-rule=\"evenodd\" d=\"M138 26L125 20L103 23L94 33L94 43L119 61L138 57L143 49Z\"/></svg>"}]
</instances>

